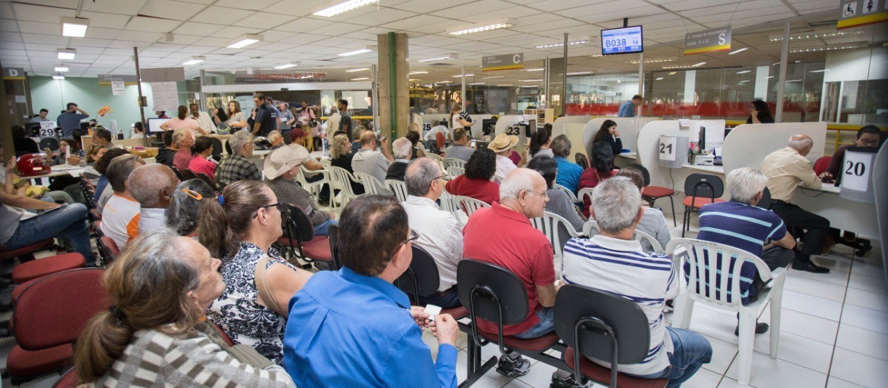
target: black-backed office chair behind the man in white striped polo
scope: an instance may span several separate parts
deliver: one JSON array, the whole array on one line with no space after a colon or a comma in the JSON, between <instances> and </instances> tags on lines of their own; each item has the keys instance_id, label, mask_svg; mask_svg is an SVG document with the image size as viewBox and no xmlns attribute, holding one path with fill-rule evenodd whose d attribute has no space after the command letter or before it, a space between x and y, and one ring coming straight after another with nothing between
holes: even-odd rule
<instances>
[{"instance_id":1,"label":"black-backed office chair behind the man in white striped polo","mask_svg":"<svg viewBox=\"0 0 888 388\"><path fill-rule=\"evenodd\" d=\"M669 383L666 378L623 375L587 358L617 364L645 361L651 329L645 313L629 299L583 285L565 285L555 297L555 331L569 346L565 361L577 383L583 377L611 388L662 388Z\"/></svg>"}]
</instances>

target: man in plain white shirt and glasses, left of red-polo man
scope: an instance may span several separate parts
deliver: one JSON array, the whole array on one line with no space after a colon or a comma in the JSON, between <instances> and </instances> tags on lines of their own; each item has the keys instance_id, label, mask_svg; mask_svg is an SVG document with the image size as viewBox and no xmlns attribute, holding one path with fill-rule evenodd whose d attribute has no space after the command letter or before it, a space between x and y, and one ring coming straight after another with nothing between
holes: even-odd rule
<instances>
[{"instance_id":1,"label":"man in plain white shirt and glasses, left of red-polo man","mask_svg":"<svg viewBox=\"0 0 888 388\"><path fill-rule=\"evenodd\" d=\"M407 211L410 229L419 235L415 244L432 255L440 275L438 294L420 297L419 302L458 307L461 304L456 292L456 265L463 260L463 224L435 203L444 193L444 173L434 160L418 158L410 161L404 182L408 197L400 205Z\"/></svg>"}]
</instances>

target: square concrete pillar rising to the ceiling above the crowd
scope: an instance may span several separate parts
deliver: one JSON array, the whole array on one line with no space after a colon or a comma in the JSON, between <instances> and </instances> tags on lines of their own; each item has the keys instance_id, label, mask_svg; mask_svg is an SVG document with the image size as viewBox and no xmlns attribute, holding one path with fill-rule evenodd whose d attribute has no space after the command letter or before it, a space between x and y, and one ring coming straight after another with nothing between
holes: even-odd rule
<instances>
[{"instance_id":1,"label":"square concrete pillar rising to the ceiling above the crowd","mask_svg":"<svg viewBox=\"0 0 888 388\"><path fill-rule=\"evenodd\" d=\"M382 133L391 134L389 138L392 140L407 135L407 126L410 122L410 89L408 85L410 69L407 65L407 39L407 34L377 35L379 128ZM390 51L394 54L393 60ZM394 82L392 82L392 76ZM393 105L392 97L394 97Z\"/></svg>"}]
</instances>

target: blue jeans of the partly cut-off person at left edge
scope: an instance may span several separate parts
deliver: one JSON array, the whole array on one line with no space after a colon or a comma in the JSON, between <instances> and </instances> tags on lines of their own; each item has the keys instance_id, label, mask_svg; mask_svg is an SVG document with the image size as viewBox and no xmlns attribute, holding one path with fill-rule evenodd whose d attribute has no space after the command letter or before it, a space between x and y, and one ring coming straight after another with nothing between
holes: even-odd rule
<instances>
[{"instance_id":1,"label":"blue jeans of the partly cut-off person at left edge","mask_svg":"<svg viewBox=\"0 0 888 388\"><path fill-rule=\"evenodd\" d=\"M83 204L63 205L48 213L19 221L19 228L6 242L6 249L18 249L47 238L70 238L71 249L83 255L86 265L96 265L90 245L90 229L86 223L86 206Z\"/></svg>"}]
</instances>

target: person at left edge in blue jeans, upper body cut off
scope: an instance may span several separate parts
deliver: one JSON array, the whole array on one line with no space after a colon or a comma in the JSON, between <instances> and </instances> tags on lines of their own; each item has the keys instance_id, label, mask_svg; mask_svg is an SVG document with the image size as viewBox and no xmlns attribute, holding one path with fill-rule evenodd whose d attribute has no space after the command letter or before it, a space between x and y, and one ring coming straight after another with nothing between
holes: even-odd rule
<instances>
[{"instance_id":1,"label":"person at left edge in blue jeans, upper body cut off","mask_svg":"<svg viewBox=\"0 0 888 388\"><path fill-rule=\"evenodd\" d=\"M2 147L0 151L3 151ZM83 255L87 266L95 266L86 206L59 206L55 202L13 194L14 171L15 158L10 158L4 165L4 182L0 182L4 184L4 190L0 190L0 246L11 251L47 238L70 238L74 252ZM45 212L35 215L26 210Z\"/></svg>"}]
</instances>

